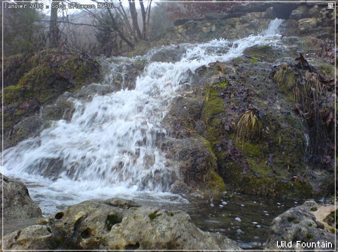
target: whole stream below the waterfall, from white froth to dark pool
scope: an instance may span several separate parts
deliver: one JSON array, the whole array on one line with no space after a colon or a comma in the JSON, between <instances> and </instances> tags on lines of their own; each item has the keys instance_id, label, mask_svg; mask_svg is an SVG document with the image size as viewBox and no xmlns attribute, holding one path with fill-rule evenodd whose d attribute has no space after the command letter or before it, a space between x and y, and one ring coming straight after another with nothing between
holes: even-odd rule
<instances>
[{"instance_id":1,"label":"whole stream below the waterfall, from white froth to dark pool","mask_svg":"<svg viewBox=\"0 0 338 252\"><path fill-rule=\"evenodd\" d=\"M240 193L223 192L216 196L193 194L180 196L163 192L139 192L124 187L93 187L92 191L68 192L67 181L49 184L41 183L41 177L28 175L25 178L5 174L26 183L30 196L42 209L43 215L55 214L64 208L85 200L108 199L114 197L136 201L144 206L187 212L197 227L203 231L219 232L237 241L243 249L262 249L269 234L273 218L288 209L302 205L305 200L275 200L265 197L248 196ZM69 183L74 183L70 180ZM74 184L71 186L73 187ZM59 188L59 189L58 189ZM64 188L64 190L60 190ZM212 198L213 197L213 198Z\"/></svg>"}]
</instances>

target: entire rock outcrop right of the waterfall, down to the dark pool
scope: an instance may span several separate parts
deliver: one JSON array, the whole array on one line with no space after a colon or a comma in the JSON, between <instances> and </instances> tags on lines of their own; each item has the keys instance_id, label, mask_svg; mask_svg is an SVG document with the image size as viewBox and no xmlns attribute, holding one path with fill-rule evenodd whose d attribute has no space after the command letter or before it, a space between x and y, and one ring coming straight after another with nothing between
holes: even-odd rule
<instances>
[{"instance_id":1,"label":"entire rock outcrop right of the waterfall, down to the dark pool","mask_svg":"<svg viewBox=\"0 0 338 252\"><path fill-rule=\"evenodd\" d=\"M312 171L306 162L308 153L314 160L333 158L326 142L321 148L330 154L319 154L310 145L319 132L326 134L327 142L334 142L333 122L327 119L334 110L333 89L327 82L332 77L321 79L332 76L333 66L319 58L311 61L317 66L309 69L297 61L280 63L294 60L303 50L296 38L283 38L280 44L284 43L284 50L249 47L242 57L197 69L192 81L183 84L181 96L162 121L170 138L162 141L161 149L180 167L181 179L172 192L221 191L221 178L227 190L270 197L311 198L334 192L332 162L320 161L317 167L322 169ZM310 122L314 120L311 102L318 100L299 107L308 92L299 89L303 83L317 85L313 90L319 91L318 85L323 88L315 94L321 100L320 118L327 123L318 130Z\"/></svg>"}]
</instances>

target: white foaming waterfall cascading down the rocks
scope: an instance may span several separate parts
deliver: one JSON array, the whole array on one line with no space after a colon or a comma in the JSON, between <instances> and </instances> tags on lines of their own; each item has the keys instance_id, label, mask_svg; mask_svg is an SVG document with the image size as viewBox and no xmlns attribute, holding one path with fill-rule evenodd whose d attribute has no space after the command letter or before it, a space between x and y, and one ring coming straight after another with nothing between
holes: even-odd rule
<instances>
[{"instance_id":1,"label":"white foaming waterfall cascading down the rocks","mask_svg":"<svg viewBox=\"0 0 338 252\"><path fill-rule=\"evenodd\" d=\"M279 24L270 26L276 29ZM137 77L134 90L96 95L91 101L73 99L70 122L54 121L40 136L4 151L4 174L25 181L45 214L93 198L146 194L172 200L165 192L176 170L157 143L165 137L161 121L179 84L189 82L197 68L210 62L238 57L249 46L276 44L280 36L270 33L235 42L183 44L180 61L151 62Z\"/></svg>"}]
</instances>

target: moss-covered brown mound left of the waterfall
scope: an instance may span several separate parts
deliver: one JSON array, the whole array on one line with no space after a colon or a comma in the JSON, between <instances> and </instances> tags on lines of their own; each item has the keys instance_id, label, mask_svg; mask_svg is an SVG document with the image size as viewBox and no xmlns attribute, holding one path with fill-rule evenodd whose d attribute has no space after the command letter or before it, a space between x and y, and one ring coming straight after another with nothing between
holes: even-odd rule
<instances>
[{"instance_id":1,"label":"moss-covered brown mound left of the waterfall","mask_svg":"<svg viewBox=\"0 0 338 252\"><path fill-rule=\"evenodd\" d=\"M65 91L76 92L99 80L99 64L88 54L49 49L12 56L4 62L5 149L22 139L15 136L19 132L14 125L38 113L41 105L53 104ZM59 104L59 109L64 110L64 105ZM58 115L50 118L58 119Z\"/></svg>"}]
</instances>

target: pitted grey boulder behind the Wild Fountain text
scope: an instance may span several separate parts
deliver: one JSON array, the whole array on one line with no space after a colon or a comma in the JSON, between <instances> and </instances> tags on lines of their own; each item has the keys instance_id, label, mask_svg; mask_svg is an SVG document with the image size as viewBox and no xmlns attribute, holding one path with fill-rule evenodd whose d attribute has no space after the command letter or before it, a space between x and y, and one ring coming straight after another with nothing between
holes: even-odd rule
<instances>
[{"instance_id":1,"label":"pitted grey boulder behind the Wild Fountain text","mask_svg":"<svg viewBox=\"0 0 338 252\"><path fill-rule=\"evenodd\" d=\"M314 201L307 201L302 206L291 208L274 218L264 249L334 249L335 235L332 233L332 228L325 227L322 220L315 216L321 208L325 207ZM291 242L291 246L281 249L280 246L278 247L280 241L287 241L287 244ZM322 247L322 244L329 244L329 242L333 247Z\"/></svg>"}]
</instances>

